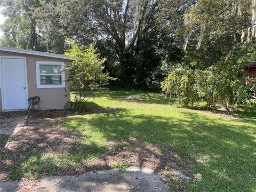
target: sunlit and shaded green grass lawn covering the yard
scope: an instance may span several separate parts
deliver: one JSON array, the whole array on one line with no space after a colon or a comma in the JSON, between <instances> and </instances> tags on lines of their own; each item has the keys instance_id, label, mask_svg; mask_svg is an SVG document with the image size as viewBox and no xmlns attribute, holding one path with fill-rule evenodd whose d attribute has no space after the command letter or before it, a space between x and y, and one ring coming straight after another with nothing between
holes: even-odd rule
<instances>
[{"instance_id":1,"label":"sunlit and shaded green grass lawn covering the yard","mask_svg":"<svg viewBox=\"0 0 256 192\"><path fill-rule=\"evenodd\" d=\"M144 100L124 100L129 95ZM6 167L1 171L11 180L77 170L84 173L86 163L136 140L141 145L157 147L154 150L163 155L177 154L174 161L180 165L179 171L199 176L182 184L187 191L256 191L255 109L235 112L241 120L230 119L178 108L162 94L139 91L90 92L88 105L93 111L87 115L60 114L60 119L52 116L60 111L41 112L43 116L36 118L32 115L27 130L31 133L20 131L13 138L0 137L3 146L6 142L17 146L15 150L1 148L0 161ZM50 139L49 133L56 138ZM69 140L62 140L61 134ZM116 143L111 149L109 141ZM61 146L74 148L63 152ZM189 170L182 170L184 164ZM126 169L128 164L121 159L111 166ZM172 169L167 164L161 164L161 168ZM172 190L181 190L179 179L171 182Z\"/></svg>"}]
</instances>

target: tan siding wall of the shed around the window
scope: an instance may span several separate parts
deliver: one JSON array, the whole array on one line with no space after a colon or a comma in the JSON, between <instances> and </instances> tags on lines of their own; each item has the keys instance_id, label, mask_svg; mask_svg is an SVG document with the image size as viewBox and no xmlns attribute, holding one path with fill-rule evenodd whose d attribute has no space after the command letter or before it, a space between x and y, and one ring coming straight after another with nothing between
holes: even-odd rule
<instances>
[{"instance_id":1,"label":"tan siding wall of the shed around the window","mask_svg":"<svg viewBox=\"0 0 256 192\"><path fill-rule=\"evenodd\" d=\"M69 62L68 60L42 57L42 56L23 54L23 53L13 53L13 52L7 52L7 51L0 51L0 56L26 57L28 97L33 97L35 95L38 95L41 98L41 104L40 104L41 109L63 109L65 103L68 100L70 100L70 90L68 88L69 87L68 82L65 83L66 85L65 88L62 87L62 88L39 88L38 89L36 87L36 61L63 61L65 62L65 65L68 65L68 62ZM69 71L65 71L65 78L67 79L68 76L69 76Z\"/></svg>"}]
</instances>

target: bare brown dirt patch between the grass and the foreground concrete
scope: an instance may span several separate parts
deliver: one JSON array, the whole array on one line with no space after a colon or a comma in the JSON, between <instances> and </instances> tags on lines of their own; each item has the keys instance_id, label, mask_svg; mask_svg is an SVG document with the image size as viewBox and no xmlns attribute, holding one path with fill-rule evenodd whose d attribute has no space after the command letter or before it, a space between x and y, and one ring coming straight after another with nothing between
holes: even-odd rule
<instances>
[{"instance_id":1,"label":"bare brown dirt patch between the grass and the foreground concrete","mask_svg":"<svg viewBox=\"0 0 256 192\"><path fill-rule=\"evenodd\" d=\"M195 162L167 149L167 146L145 145L136 140L127 140L129 146L118 148L111 154L104 155L97 161L87 162L87 171L101 171L112 169L113 164L129 163L130 166L140 167L140 169L149 169L165 181L168 186L172 186L175 179L180 179L180 191L183 191L183 184L188 179L195 179L196 175L191 173L190 165ZM114 146L115 142L109 143L109 148ZM159 152L159 147L165 148L164 152ZM181 172L182 171L182 172Z\"/></svg>"}]
</instances>

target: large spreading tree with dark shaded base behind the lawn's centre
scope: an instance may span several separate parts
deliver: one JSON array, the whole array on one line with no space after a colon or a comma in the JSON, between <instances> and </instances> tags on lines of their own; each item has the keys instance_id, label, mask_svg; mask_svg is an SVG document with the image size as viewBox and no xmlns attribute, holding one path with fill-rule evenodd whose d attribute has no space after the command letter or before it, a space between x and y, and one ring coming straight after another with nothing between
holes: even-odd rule
<instances>
[{"instance_id":1,"label":"large spreading tree with dark shaded base behind the lawn's centre","mask_svg":"<svg viewBox=\"0 0 256 192\"><path fill-rule=\"evenodd\" d=\"M150 87L163 78L154 73L163 59L180 59L177 55L181 55L181 41L173 42L178 25L183 22L183 13L192 2L44 1L37 9L36 18L47 38L67 36L79 46L94 42L100 52L111 52L114 58L106 63L106 70L115 71L113 75L118 78L115 84ZM169 49L172 47L169 44L177 49Z\"/></svg>"}]
</instances>

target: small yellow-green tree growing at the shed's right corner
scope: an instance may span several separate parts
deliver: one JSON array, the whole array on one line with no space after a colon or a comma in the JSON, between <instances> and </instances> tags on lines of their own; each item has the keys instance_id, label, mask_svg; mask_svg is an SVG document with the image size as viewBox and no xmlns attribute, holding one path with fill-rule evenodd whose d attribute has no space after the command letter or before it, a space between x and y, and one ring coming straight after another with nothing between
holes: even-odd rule
<instances>
[{"instance_id":1,"label":"small yellow-green tree growing at the shed's right corner","mask_svg":"<svg viewBox=\"0 0 256 192\"><path fill-rule=\"evenodd\" d=\"M103 86L108 83L108 80L115 80L106 73L102 73L103 63L105 58L100 59L99 54L96 53L96 49L93 45L84 47L81 50L78 45L69 40L71 49L66 51L65 54L72 58L70 66L67 70L70 70L68 82L72 89L78 90L79 100L84 100L86 94L82 98L82 91L92 90L95 87Z\"/></svg>"}]
</instances>

